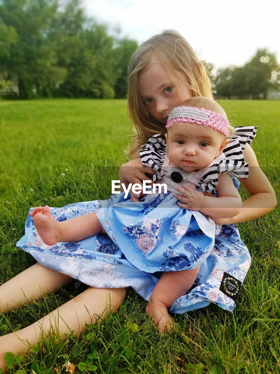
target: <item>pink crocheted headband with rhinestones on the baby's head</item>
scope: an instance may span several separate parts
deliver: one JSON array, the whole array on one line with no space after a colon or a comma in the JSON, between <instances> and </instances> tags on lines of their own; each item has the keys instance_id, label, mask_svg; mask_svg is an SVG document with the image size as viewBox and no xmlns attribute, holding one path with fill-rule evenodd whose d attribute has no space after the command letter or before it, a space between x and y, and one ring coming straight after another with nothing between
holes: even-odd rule
<instances>
[{"instance_id":1,"label":"pink crocheted headband with rhinestones on the baby's head","mask_svg":"<svg viewBox=\"0 0 280 374\"><path fill-rule=\"evenodd\" d=\"M167 129L178 122L191 122L197 125L209 126L216 131L222 132L228 137L228 120L221 114L196 107L177 107L171 110L167 125Z\"/></svg>"}]
</instances>

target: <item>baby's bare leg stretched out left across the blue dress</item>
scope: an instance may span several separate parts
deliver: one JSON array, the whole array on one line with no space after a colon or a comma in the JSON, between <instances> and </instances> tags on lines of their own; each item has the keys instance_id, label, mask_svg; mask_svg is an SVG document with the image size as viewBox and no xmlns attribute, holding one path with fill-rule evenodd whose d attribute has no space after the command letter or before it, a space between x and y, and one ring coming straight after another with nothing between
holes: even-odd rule
<instances>
[{"instance_id":1,"label":"baby's bare leg stretched out left across the blue dress","mask_svg":"<svg viewBox=\"0 0 280 374\"><path fill-rule=\"evenodd\" d=\"M62 222L57 222L52 217L47 205L36 206L29 214L33 217L38 234L47 245L58 242L78 242L100 232L106 233L96 217L96 212Z\"/></svg>"}]
</instances>

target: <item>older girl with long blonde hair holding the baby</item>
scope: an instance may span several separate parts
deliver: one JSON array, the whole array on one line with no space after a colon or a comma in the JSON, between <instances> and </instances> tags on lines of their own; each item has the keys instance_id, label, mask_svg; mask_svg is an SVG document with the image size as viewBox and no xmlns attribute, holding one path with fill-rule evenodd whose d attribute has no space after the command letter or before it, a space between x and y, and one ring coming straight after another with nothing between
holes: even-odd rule
<instances>
[{"instance_id":1,"label":"older girl with long blonde hair holding the baby","mask_svg":"<svg viewBox=\"0 0 280 374\"><path fill-rule=\"evenodd\" d=\"M136 127L135 138L138 138L138 141L134 141L131 150L132 160L122 165L120 169L121 182L141 183L146 179L145 173L155 173L152 168L141 166L141 144L146 143L154 134L164 135L164 126L170 111L181 101L192 96L212 98L211 83L203 64L180 34L175 31L164 31L147 40L137 49L131 59L128 72L128 114ZM228 272L236 270L236 273L240 273L239 279L243 281L249 267L249 252L240 240L237 227L233 223L260 217L276 205L273 188L258 167L255 154L249 145L246 145L243 155L245 161L253 166L250 167L249 177L242 180L251 196L242 203L240 214L232 218L215 218L217 223L224 224L224 226L215 238L214 252L212 251L207 261L200 265L192 290L174 303L174 307L170 309L171 312L176 310L177 313L183 313L186 310L204 307L210 302L228 310L234 308L234 300L227 297L228 303L224 303L224 300L220 298L221 295L219 299L215 293L220 288L223 270L228 269ZM237 186L237 180L233 181ZM178 205L187 208L187 191L184 185L178 188L178 191L181 193ZM137 196L133 198L137 199ZM65 220L83 212L92 212L96 208L97 206L91 202L73 204L65 207L57 216ZM27 222L27 227L29 224L30 221ZM37 243L37 248L39 248L38 245L43 246L43 243ZM87 248L88 245L88 239L86 239L80 247ZM78 335L85 331L84 323L90 324L99 316L105 316L108 312L117 310L124 297L125 287L130 284L131 279L135 280L134 289L139 290L140 295L147 297L152 293L158 277L141 272L122 262L122 259L118 258L118 249L107 236L98 235L90 243L90 247L103 253L106 262L96 260L94 264L93 261L91 269L88 269L86 273L79 272L80 279L87 283L91 274L99 274L99 279L91 283L83 293L60 306L59 311L57 309L20 331L0 337L1 368L5 367L4 352L28 352L29 345L36 343L43 332L56 327L62 337L71 330ZM66 252L66 248L64 250ZM39 251L34 247L33 251L30 249L30 252L36 258ZM60 269L61 264L67 273L73 263L71 256L65 258L55 253L52 256L58 263L57 268ZM72 281L70 276L47 267L50 257L45 252L41 252L40 258L45 266L35 264L0 286L0 306L3 313L28 301L37 300L48 292L56 292L59 286ZM86 258L82 253L77 258L82 269ZM75 268L78 271L77 258L75 258ZM220 263L223 263L221 269L219 269ZM73 269L70 270L72 272ZM106 276L103 276L104 274ZM106 287L115 288L106 289Z\"/></svg>"}]
</instances>

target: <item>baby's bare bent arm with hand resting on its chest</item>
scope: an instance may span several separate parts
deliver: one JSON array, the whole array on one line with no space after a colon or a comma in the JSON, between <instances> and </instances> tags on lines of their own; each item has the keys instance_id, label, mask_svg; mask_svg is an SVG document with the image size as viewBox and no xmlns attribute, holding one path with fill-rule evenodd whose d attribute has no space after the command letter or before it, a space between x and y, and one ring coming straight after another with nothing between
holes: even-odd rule
<instances>
[{"instance_id":1,"label":"baby's bare bent arm with hand resting on its chest","mask_svg":"<svg viewBox=\"0 0 280 374\"><path fill-rule=\"evenodd\" d=\"M181 208L197 210L212 218L233 217L240 212L242 200L228 173L221 174L218 177L216 186L218 197L205 196L202 192L186 185L175 187L175 189L180 193L184 192L184 197L175 195L178 200L183 202L177 202Z\"/></svg>"}]
</instances>

